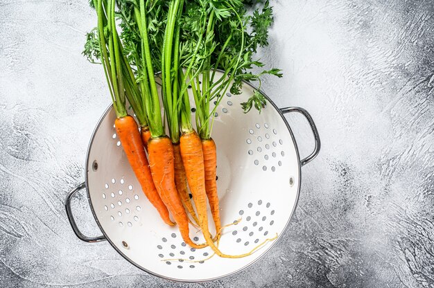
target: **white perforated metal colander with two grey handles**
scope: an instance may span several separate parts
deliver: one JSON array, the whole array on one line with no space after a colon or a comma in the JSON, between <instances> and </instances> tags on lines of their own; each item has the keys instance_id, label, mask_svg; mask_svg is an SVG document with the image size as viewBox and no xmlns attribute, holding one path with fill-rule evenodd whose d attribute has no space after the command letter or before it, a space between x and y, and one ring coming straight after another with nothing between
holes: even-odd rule
<instances>
[{"instance_id":1,"label":"white perforated metal colander with two grey handles","mask_svg":"<svg viewBox=\"0 0 434 288\"><path fill-rule=\"evenodd\" d=\"M245 83L241 95L227 93L216 110L212 134L217 145L221 222L225 225L242 218L240 223L225 228L220 240L219 249L232 255L248 252L263 240L284 233L297 205L301 167L320 150L318 131L311 116L302 108L279 109L267 98L268 105L261 114L257 111L244 114L240 104L253 92L254 87ZM194 107L193 102L191 105ZM307 118L315 137L315 150L302 160L284 118L284 114L292 111ZM279 240L278 237L268 242L245 258L214 255L205 260L213 254L212 250L209 247L192 249L186 245L177 226L164 224L146 199L116 136L115 118L114 110L108 107L89 143L85 182L67 195L67 215L80 240L107 240L123 258L140 269L184 282L214 280L241 271ZM86 237L73 219L71 198L82 188L87 190L92 213L103 236ZM214 227L211 213L209 221L209 226ZM193 226L190 228L195 242L205 242L200 231ZM214 235L215 231L211 232Z\"/></svg>"}]
</instances>

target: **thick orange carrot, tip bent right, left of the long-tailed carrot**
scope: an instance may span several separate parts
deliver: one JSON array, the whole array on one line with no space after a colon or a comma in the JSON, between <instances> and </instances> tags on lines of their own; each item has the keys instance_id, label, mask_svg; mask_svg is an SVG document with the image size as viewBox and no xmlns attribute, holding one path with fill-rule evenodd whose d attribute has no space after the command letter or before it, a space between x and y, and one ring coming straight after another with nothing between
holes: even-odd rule
<instances>
[{"instance_id":1,"label":"thick orange carrot, tip bent right, left of the long-tailed carrot","mask_svg":"<svg viewBox=\"0 0 434 288\"><path fill-rule=\"evenodd\" d=\"M189 235L189 218L182 206L182 201L177 194L175 186L175 164L173 145L167 136L150 138L148 142L150 171L157 191L164 204L171 211L175 219L182 239L193 248L203 248L206 245L198 245L191 241Z\"/></svg>"}]
</instances>

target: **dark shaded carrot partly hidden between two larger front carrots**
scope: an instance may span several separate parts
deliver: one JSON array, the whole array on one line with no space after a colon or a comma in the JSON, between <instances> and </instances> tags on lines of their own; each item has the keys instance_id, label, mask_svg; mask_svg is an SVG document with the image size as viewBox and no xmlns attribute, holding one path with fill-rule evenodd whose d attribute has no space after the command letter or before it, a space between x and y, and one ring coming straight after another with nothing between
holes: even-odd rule
<instances>
[{"instance_id":1,"label":"dark shaded carrot partly hidden between two larger front carrots","mask_svg":"<svg viewBox=\"0 0 434 288\"><path fill-rule=\"evenodd\" d=\"M193 205L191 204L189 190L187 188L187 179L185 175L185 169L184 164L182 164L182 158L181 158L181 150L180 150L180 143L173 144L173 154L175 156L175 185L178 194L180 195L182 204L184 204L184 207L188 211L188 213L193 217L194 222L192 223L193 226L196 226L196 224L199 224L198 217L196 217L196 213L194 212Z\"/></svg>"}]
</instances>

